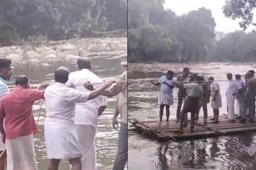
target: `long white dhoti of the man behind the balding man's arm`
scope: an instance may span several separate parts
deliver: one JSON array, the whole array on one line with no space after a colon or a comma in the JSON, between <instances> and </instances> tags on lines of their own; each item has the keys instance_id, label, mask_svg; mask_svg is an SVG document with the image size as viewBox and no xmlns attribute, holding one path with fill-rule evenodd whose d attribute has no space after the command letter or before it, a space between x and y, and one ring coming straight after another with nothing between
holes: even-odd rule
<instances>
[{"instance_id":1,"label":"long white dhoti of the man behind the balding man's arm","mask_svg":"<svg viewBox=\"0 0 256 170\"><path fill-rule=\"evenodd\" d=\"M86 124L75 124L78 141L82 146L82 170L97 170L94 137L96 127Z\"/></svg>"}]
</instances>

